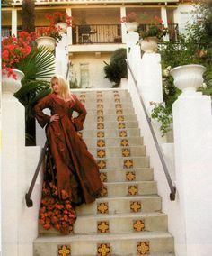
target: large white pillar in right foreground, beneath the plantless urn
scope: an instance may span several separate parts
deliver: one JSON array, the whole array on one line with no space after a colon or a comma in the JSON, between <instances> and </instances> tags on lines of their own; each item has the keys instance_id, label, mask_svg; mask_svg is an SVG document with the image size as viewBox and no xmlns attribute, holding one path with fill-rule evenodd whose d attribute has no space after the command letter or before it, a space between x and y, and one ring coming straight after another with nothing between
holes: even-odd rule
<instances>
[{"instance_id":1,"label":"large white pillar in right foreground, beneath the plantless urn","mask_svg":"<svg viewBox=\"0 0 212 256\"><path fill-rule=\"evenodd\" d=\"M211 100L183 93L173 104L176 187L184 219L186 256L212 255ZM183 229L183 228L182 228ZM184 255L183 255L184 256Z\"/></svg>"}]
</instances>

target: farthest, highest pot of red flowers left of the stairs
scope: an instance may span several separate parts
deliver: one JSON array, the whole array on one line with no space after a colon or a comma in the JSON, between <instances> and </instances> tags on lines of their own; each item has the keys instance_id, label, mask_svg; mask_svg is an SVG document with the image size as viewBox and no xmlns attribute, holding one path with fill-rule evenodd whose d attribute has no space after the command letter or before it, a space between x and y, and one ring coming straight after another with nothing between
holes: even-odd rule
<instances>
[{"instance_id":1,"label":"farthest, highest pot of red flowers left of the stairs","mask_svg":"<svg viewBox=\"0 0 212 256\"><path fill-rule=\"evenodd\" d=\"M65 12L47 14L46 18L50 21L50 25L60 28L60 32L66 33L67 27L72 26L72 16L69 16Z\"/></svg>"}]
</instances>

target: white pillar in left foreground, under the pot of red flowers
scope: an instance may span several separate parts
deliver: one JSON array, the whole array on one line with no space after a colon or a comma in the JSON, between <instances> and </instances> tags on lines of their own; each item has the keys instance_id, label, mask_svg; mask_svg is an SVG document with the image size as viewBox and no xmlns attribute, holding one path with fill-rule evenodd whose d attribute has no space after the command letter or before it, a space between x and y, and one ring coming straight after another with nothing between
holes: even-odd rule
<instances>
[{"instance_id":1,"label":"white pillar in left foreground, under the pot of red flowers","mask_svg":"<svg viewBox=\"0 0 212 256\"><path fill-rule=\"evenodd\" d=\"M2 101L2 254L17 256L19 243L20 189L25 160L25 110L12 95ZM21 184L20 184L21 181Z\"/></svg>"}]
</instances>

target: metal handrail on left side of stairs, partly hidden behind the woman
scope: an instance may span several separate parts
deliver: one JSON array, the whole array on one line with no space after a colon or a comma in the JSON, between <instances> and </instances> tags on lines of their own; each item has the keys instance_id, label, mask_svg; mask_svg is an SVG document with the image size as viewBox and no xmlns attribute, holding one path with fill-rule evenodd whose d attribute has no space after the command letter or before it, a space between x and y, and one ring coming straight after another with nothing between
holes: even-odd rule
<instances>
[{"instance_id":1,"label":"metal handrail on left side of stairs, partly hidden behind the woman","mask_svg":"<svg viewBox=\"0 0 212 256\"><path fill-rule=\"evenodd\" d=\"M70 63L68 62L67 63L67 70L66 70L66 79L68 77L69 69L70 69ZM30 186L30 188L28 190L28 193L26 193L26 195L25 195L26 205L28 207L32 207L33 206L33 201L31 200L31 193L32 193L33 188L35 186L36 179L38 178L38 175L39 175L39 172L40 172L40 167L41 167L42 161L44 160L44 157L45 157L45 154L46 154L47 150L48 150L48 141L45 142L45 145L42 148L42 151L40 153L40 160L39 160L37 168L35 170L35 174L34 174L32 180L31 180L31 186Z\"/></svg>"}]
</instances>

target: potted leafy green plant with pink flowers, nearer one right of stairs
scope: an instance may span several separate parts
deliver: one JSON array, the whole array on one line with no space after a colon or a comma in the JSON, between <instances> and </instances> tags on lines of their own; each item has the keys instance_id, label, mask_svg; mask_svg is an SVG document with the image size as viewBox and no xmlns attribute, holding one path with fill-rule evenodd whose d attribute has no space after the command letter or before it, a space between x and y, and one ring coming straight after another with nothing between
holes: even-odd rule
<instances>
[{"instance_id":1,"label":"potted leafy green plant with pink flowers, nearer one right of stairs","mask_svg":"<svg viewBox=\"0 0 212 256\"><path fill-rule=\"evenodd\" d=\"M168 28L163 25L163 20L155 16L153 23L146 26L146 30L139 32L141 50L145 52L155 52L157 42L168 33Z\"/></svg>"}]
</instances>

